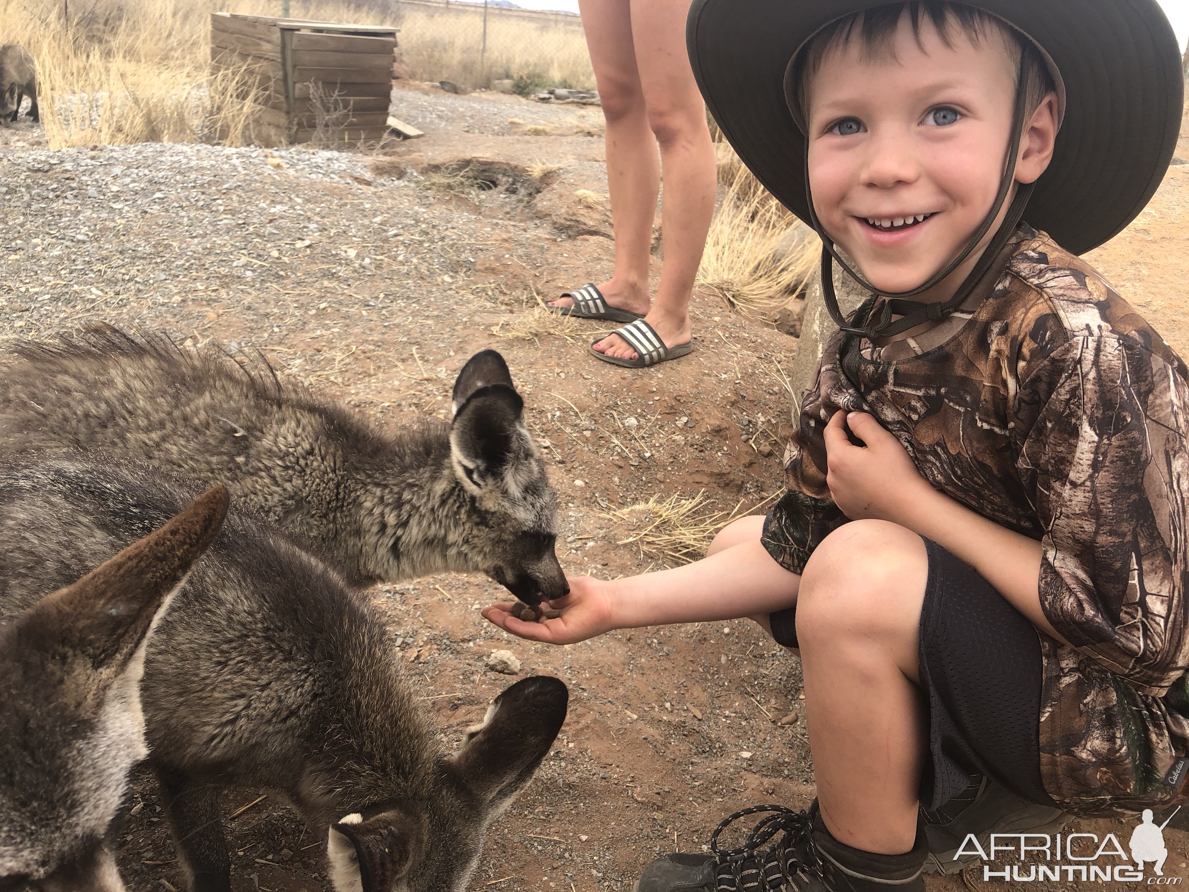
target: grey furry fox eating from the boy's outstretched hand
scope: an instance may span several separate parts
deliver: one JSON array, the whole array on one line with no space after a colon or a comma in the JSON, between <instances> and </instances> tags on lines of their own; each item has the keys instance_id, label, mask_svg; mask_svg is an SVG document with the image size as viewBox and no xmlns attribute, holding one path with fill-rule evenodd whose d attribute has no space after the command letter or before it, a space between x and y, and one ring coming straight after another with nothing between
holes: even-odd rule
<instances>
[{"instance_id":1,"label":"grey furry fox eating from the boy's outstretched hand","mask_svg":"<svg viewBox=\"0 0 1189 892\"><path fill-rule=\"evenodd\" d=\"M508 366L476 354L453 421L385 433L263 360L103 327L0 362L0 454L107 452L222 483L352 586L484 572L529 604L568 591L556 495Z\"/></svg>"}]
</instances>

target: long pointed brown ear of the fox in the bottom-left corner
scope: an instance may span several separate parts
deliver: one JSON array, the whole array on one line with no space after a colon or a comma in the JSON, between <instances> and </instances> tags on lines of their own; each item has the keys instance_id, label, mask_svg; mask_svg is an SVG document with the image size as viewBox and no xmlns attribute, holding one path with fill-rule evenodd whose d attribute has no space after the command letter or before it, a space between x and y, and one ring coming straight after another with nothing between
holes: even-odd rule
<instances>
[{"instance_id":1,"label":"long pointed brown ear of the fox in the bottom-left corner","mask_svg":"<svg viewBox=\"0 0 1189 892\"><path fill-rule=\"evenodd\" d=\"M101 674L120 674L226 514L227 490L215 486L161 529L42 598L18 621L14 640L26 652L81 657Z\"/></svg>"}]
</instances>

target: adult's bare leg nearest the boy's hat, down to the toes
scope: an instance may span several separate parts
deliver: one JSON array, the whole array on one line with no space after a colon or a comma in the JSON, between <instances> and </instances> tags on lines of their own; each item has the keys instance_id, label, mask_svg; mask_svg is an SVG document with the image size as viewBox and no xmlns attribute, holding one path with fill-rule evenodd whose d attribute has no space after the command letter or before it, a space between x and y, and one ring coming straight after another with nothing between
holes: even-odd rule
<instances>
[{"instance_id":1,"label":"adult's bare leg nearest the boy's hat, down to the toes","mask_svg":"<svg viewBox=\"0 0 1189 892\"><path fill-rule=\"evenodd\" d=\"M690 340L690 294L706 245L717 184L706 109L685 48L688 11L688 0L631 4L636 67L643 84L648 126L660 144L665 181L661 199L665 263L646 319L671 347ZM636 357L636 351L618 335L604 338L594 348L608 356Z\"/></svg>"}]
</instances>

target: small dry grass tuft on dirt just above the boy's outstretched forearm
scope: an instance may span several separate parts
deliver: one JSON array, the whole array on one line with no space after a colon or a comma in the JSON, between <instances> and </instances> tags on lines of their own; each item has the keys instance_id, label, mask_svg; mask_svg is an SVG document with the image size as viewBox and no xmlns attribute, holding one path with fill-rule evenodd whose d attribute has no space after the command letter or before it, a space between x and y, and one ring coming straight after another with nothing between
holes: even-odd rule
<instances>
[{"instance_id":1,"label":"small dry grass tuft on dirt just above the boy's outstretched forearm","mask_svg":"<svg viewBox=\"0 0 1189 892\"><path fill-rule=\"evenodd\" d=\"M746 510L742 500L731 511L716 511L705 490L693 498L672 495L662 500L652 496L628 508L619 508L603 516L615 521L629 535L618 545L634 545L641 557L660 561L666 566L678 566L700 560L715 535L734 520L756 514L780 492L774 492L759 504Z\"/></svg>"}]
</instances>

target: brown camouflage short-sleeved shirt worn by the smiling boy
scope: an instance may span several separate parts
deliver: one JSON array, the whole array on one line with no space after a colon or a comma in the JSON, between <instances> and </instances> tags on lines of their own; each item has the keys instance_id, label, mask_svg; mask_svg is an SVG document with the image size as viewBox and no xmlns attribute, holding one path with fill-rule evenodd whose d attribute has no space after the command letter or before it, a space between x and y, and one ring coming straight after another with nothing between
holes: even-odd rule
<instances>
[{"instance_id":1,"label":"brown camouflage short-sleeved shirt worn by the smiling boy","mask_svg":"<svg viewBox=\"0 0 1189 892\"><path fill-rule=\"evenodd\" d=\"M1189 790L1164 778L1189 755L1185 365L1045 233L1021 226L998 269L916 338L833 333L765 544L800 572L847 522L822 431L872 413L936 489L1043 545L1040 604L1074 645L1040 634L1049 794L1082 812L1179 804Z\"/></svg>"}]
</instances>

